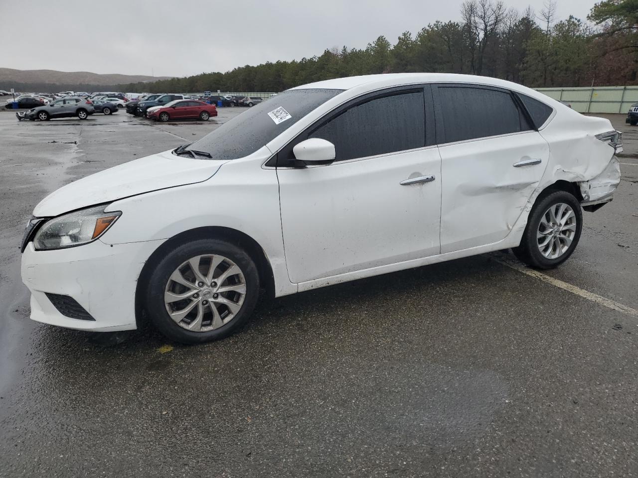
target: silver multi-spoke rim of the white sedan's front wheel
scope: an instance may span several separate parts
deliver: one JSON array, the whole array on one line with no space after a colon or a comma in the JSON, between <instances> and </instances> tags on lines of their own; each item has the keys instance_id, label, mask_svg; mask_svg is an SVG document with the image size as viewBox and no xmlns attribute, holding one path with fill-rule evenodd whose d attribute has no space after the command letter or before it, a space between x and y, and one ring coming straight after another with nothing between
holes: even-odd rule
<instances>
[{"instance_id":1,"label":"silver multi-spoke rim of the white sedan's front wheel","mask_svg":"<svg viewBox=\"0 0 638 478\"><path fill-rule=\"evenodd\" d=\"M219 254L196 256L170 275L164 304L181 328L207 332L232 321L246 298L241 268Z\"/></svg>"}]
</instances>

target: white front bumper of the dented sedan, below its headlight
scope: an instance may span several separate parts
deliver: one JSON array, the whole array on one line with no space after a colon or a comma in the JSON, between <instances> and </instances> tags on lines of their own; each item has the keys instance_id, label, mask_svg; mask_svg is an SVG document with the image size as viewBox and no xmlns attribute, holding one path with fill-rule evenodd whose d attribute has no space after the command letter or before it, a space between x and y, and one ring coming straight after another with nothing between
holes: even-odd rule
<instances>
[{"instance_id":1,"label":"white front bumper of the dented sedan, below its headlight","mask_svg":"<svg viewBox=\"0 0 638 478\"><path fill-rule=\"evenodd\" d=\"M96 240L69 249L22 254L22 282L31 291L31 319L77 330L132 330L135 290L142 267L164 240L108 245ZM47 297L70 296L95 320L63 315Z\"/></svg>"}]
</instances>

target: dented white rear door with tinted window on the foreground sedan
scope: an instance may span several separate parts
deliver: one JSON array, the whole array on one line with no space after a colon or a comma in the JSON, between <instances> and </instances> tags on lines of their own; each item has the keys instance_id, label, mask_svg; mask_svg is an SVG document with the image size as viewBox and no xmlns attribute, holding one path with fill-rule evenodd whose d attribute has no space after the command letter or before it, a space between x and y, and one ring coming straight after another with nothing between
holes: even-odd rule
<instances>
[{"instance_id":1,"label":"dented white rear door with tinted window on the foreground sedan","mask_svg":"<svg viewBox=\"0 0 638 478\"><path fill-rule=\"evenodd\" d=\"M435 85L441 154L441 253L503 240L540 182L549 145L516 95Z\"/></svg>"}]
</instances>

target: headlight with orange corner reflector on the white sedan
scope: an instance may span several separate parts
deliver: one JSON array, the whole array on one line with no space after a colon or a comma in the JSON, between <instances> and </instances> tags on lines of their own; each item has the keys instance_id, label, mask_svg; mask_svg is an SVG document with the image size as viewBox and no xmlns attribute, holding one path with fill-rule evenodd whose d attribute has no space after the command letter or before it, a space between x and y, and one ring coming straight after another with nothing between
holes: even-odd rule
<instances>
[{"instance_id":1,"label":"headlight with orange corner reflector on the white sedan","mask_svg":"<svg viewBox=\"0 0 638 478\"><path fill-rule=\"evenodd\" d=\"M95 206L50 219L33 238L38 250L64 249L96 240L103 235L121 211L104 212L107 206Z\"/></svg>"}]
</instances>

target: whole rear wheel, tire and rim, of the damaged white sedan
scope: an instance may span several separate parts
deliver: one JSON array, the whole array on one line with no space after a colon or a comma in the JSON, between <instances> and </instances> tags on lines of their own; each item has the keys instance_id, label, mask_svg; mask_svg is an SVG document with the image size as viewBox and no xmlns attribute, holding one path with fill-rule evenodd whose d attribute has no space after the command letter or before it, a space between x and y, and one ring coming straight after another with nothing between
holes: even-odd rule
<instances>
[{"instance_id":1,"label":"whole rear wheel, tire and rim, of the damaged white sedan","mask_svg":"<svg viewBox=\"0 0 638 478\"><path fill-rule=\"evenodd\" d=\"M534 205L521 239L512 249L531 267L551 269L572 255L582 231L581 205L573 194L554 191Z\"/></svg>"}]
</instances>

